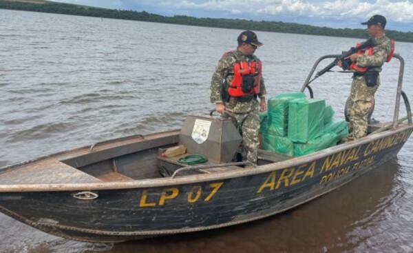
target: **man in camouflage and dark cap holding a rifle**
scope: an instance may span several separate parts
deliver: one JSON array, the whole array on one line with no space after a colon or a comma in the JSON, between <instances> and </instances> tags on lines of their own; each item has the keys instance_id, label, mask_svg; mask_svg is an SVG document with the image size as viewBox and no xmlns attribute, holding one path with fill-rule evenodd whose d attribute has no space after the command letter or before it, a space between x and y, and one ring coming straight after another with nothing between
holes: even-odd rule
<instances>
[{"instance_id":1,"label":"man in camouflage and dark cap holding a rifle","mask_svg":"<svg viewBox=\"0 0 413 253\"><path fill-rule=\"evenodd\" d=\"M347 141L359 139L367 134L368 112L372 107L374 93L380 85L379 72L381 66L392 52L392 41L384 34L385 17L374 15L368 21L361 23L367 25L367 32L375 39L372 55L368 51L364 54L354 53L348 57L356 62L358 67L368 68L365 73L355 72L350 90L350 97L346 106L350 122L350 134Z\"/></svg>"}]
</instances>

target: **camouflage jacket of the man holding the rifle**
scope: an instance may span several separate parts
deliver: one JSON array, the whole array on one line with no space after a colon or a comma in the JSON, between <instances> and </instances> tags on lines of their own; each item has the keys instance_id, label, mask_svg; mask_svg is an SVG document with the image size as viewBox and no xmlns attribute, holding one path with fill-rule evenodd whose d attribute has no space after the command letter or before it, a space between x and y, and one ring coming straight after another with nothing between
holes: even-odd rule
<instances>
[{"instance_id":1,"label":"camouflage jacket of the man holding the rifle","mask_svg":"<svg viewBox=\"0 0 413 253\"><path fill-rule=\"evenodd\" d=\"M366 51L366 54L357 57L357 66L381 72L381 66L390 52L392 52L392 41L383 34L382 37L376 39L372 55L367 55Z\"/></svg>"}]
</instances>

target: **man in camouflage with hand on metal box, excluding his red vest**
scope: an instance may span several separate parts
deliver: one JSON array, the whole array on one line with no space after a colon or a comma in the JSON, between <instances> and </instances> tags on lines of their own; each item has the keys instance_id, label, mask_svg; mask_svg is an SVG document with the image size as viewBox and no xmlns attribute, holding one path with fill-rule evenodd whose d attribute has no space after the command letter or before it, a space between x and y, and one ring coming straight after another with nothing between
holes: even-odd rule
<instances>
[{"instance_id":1,"label":"man in camouflage with hand on metal box, excluding his red vest","mask_svg":"<svg viewBox=\"0 0 413 253\"><path fill-rule=\"evenodd\" d=\"M258 132L260 128L258 108L260 107L262 112L266 110L264 79L261 76L260 92L258 94L248 94L242 97L229 96L223 86L226 87L226 84L230 84L233 80L233 66L236 62L245 61L251 64L256 61L261 64L260 59L255 57L254 52L257 47L263 44L258 41L257 35L249 30L242 32L237 37L237 42L237 49L224 54L222 59L218 61L211 79L211 103L215 103L215 110L223 114L224 117L231 117L235 127L242 132L243 161L257 163ZM260 103L258 103L257 97L260 97Z\"/></svg>"}]
</instances>

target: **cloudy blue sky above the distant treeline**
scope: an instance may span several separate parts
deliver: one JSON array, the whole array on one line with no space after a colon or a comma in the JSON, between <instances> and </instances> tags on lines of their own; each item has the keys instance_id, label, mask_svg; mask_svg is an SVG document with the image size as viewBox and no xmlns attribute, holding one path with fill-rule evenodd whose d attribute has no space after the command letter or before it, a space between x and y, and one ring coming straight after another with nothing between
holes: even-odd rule
<instances>
[{"instance_id":1,"label":"cloudy blue sky above the distant treeline","mask_svg":"<svg viewBox=\"0 0 413 253\"><path fill-rule=\"evenodd\" d=\"M365 28L374 14L385 29L413 32L412 0L54 0L109 9L255 21L283 21L330 28Z\"/></svg>"}]
</instances>

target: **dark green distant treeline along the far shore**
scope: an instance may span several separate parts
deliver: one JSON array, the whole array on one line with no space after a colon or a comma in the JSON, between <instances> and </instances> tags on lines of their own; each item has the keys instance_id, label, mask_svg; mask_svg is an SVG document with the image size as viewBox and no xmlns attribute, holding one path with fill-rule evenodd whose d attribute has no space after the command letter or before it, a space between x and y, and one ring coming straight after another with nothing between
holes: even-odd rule
<instances>
[{"instance_id":1,"label":"dark green distant treeline along the far shore","mask_svg":"<svg viewBox=\"0 0 413 253\"><path fill-rule=\"evenodd\" d=\"M34 1L33 1L34 2ZM68 3L54 3L50 1L36 1L36 3L0 0L0 8L10 10L26 10L32 12L50 12L89 17L103 17L109 19L127 19L136 21L149 21L157 23L174 23L186 26L206 26L211 28L230 28L239 30L260 30L268 32L286 32L295 34L313 34L333 37L366 37L365 29L333 29L327 27L300 25L297 23L284 23L276 21L253 21L245 19L211 19L195 18L189 16L166 17L151 14L145 11L109 10L89 6L78 6ZM386 30L388 37L396 41L413 42L413 32L398 32Z\"/></svg>"}]
</instances>

